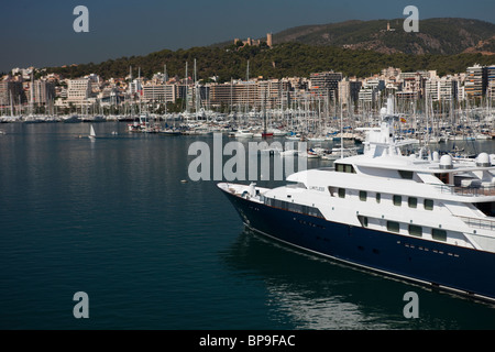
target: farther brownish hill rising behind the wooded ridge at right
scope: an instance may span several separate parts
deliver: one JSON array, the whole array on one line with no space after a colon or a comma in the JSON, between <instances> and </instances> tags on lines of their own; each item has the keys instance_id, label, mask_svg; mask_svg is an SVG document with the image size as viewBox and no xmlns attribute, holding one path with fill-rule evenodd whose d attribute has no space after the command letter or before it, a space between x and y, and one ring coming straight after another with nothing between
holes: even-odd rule
<instances>
[{"instance_id":1,"label":"farther brownish hill rising behind the wooded ridge at right","mask_svg":"<svg viewBox=\"0 0 495 352\"><path fill-rule=\"evenodd\" d=\"M387 31L387 23L391 31ZM403 23L404 19L395 19L305 25L274 33L273 42L331 45L386 54L495 54L494 23L470 19L426 19L420 20L418 33L405 32Z\"/></svg>"}]
</instances>

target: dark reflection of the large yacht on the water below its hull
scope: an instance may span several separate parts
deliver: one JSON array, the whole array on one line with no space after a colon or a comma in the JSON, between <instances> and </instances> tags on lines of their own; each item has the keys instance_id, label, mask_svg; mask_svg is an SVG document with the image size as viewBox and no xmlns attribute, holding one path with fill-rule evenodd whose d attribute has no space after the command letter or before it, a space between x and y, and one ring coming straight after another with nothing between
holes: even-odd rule
<instances>
[{"instance_id":1,"label":"dark reflection of the large yacht on the water below its hull","mask_svg":"<svg viewBox=\"0 0 495 352\"><path fill-rule=\"evenodd\" d=\"M294 250L244 230L224 261L262 282L275 322L292 329L493 329L494 307L372 274ZM419 318L407 319L404 294L419 296Z\"/></svg>"}]
</instances>

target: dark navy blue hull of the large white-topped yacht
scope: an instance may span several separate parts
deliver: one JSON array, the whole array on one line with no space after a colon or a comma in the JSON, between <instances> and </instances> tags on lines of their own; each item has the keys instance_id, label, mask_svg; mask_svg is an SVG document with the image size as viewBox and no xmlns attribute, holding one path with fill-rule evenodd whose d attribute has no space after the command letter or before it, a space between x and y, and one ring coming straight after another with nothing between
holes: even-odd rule
<instances>
[{"instance_id":1,"label":"dark navy blue hull of the large white-topped yacht","mask_svg":"<svg viewBox=\"0 0 495 352\"><path fill-rule=\"evenodd\" d=\"M314 253L387 275L495 300L495 254L352 227L223 191L253 230Z\"/></svg>"}]
</instances>

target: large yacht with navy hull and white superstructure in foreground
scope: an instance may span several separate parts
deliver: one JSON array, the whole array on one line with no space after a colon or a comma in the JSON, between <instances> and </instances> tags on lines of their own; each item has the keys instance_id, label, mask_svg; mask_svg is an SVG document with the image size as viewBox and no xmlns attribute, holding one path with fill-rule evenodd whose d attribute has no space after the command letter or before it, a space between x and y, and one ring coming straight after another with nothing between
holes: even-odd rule
<instances>
[{"instance_id":1,"label":"large yacht with navy hull and white superstructure in foreground","mask_svg":"<svg viewBox=\"0 0 495 352\"><path fill-rule=\"evenodd\" d=\"M404 155L393 101L364 152L287 185L218 187L244 224L299 249L407 280L495 300L495 166L487 153Z\"/></svg>"}]
</instances>

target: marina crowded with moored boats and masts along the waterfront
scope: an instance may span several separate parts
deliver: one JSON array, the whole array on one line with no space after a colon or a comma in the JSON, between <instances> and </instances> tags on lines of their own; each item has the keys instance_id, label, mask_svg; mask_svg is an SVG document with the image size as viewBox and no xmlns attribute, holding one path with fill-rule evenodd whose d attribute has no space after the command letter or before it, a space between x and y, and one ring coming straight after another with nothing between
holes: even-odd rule
<instances>
[{"instance_id":1,"label":"marina crowded with moored boats and masts along the waterfront","mask_svg":"<svg viewBox=\"0 0 495 352\"><path fill-rule=\"evenodd\" d=\"M397 100L397 107L402 107ZM284 110L265 110L250 113L220 113L205 111L201 113L140 113L112 116L0 116L0 123L100 123L124 122L128 132L161 133L163 135L206 135L224 133L239 140L284 139L285 141L307 142L311 144L308 157L336 160L338 148L333 151L319 147L321 143L339 143L343 141L345 151L341 154L356 153L355 144L365 139L365 131L380 124L378 111L355 113L343 107L318 109L319 101L305 105L305 109L287 108ZM377 109L380 110L380 109ZM199 109L198 109L199 111ZM409 153L419 148L431 148L433 145L441 154L473 157L476 151L466 152L474 146L474 141L487 141L495 138L495 116L491 103L469 109L453 109L449 111L425 110L416 112L402 107L397 113L399 123L396 124L396 138L408 140ZM4 131L4 129L2 129ZM4 133L4 132L3 132ZM442 147L452 142L452 147ZM437 146L440 144L440 147ZM471 145L470 145L471 144ZM351 146L349 148L348 146ZM315 152L315 151L318 152ZM288 153L290 151L287 151Z\"/></svg>"}]
</instances>

